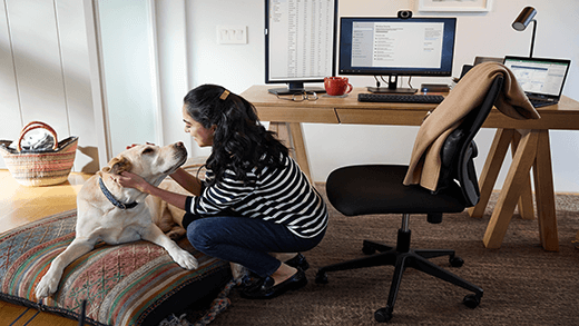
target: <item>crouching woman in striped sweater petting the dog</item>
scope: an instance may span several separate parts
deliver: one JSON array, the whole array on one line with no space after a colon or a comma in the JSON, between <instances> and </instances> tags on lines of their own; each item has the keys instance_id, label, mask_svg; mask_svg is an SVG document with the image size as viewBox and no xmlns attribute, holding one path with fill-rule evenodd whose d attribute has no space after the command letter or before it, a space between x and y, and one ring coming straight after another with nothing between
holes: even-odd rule
<instances>
[{"instance_id":1,"label":"crouching woman in striped sweater petting the dog","mask_svg":"<svg viewBox=\"0 0 579 326\"><path fill-rule=\"evenodd\" d=\"M184 101L185 132L200 147L213 147L204 181L184 169L171 175L196 196L159 189L130 172L118 182L185 209L183 226L197 250L258 275L258 286L246 286L243 296L272 298L305 286L301 255L283 263L268 253L305 251L320 244L327 226L322 197L244 98L204 85Z\"/></svg>"}]
</instances>

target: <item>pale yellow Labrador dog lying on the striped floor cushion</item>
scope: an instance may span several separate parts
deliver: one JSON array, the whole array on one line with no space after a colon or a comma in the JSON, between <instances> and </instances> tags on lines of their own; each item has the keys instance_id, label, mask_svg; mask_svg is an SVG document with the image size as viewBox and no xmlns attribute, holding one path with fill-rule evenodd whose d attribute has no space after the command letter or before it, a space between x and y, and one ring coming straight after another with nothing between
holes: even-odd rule
<instances>
[{"instance_id":1,"label":"pale yellow Labrador dog lying on the striped floor cushion","mask_svg":"<svg viewBox=\"0 0 579 326\"><path fill-rule=\"evenodd\" d=\"M158 215L158 207L151 196L137 189L124 188L112 180L110 175L130 171L139 175L149 184L158 186L187 159L187 150L181 142L159 147L138 145L122 151L97 175L82 186L77 197L76 237L58 255L47 274L36 287L36 296L41 299L57 292L65 268L75 259L90 251L102 239L110 245L118 245L139 239L164 247L175 263L183 268L195 269L197 259L181 249L153 223ZM124 202L137 201L135 208L120 209L114 206L100 190L98 179L102 178L112 196Z\"/></svg>"}]
</instances>

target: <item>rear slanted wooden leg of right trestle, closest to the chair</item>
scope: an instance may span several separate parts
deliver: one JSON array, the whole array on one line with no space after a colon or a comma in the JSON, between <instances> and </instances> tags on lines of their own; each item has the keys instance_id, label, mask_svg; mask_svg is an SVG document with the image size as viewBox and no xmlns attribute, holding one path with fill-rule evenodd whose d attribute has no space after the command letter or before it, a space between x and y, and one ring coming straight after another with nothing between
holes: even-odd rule
<instances>
[{"instance_id":1,"label":"rear slanted wooden leg of right trestle, closest to the chair","mask_svg":"<svg viewBox=\"0 0 579 326\"><path fill-rule=\"evenodd\" d=\"M497 129L491 149L489 150L489 156L484 161L484 168L482 169L479 179L481 198L479 204L468 209L470 216L481 218L484 215L484 209L489 204L492 189L494 188L494 184L499 177L499 171L501 170L502 162L507 156L507 150L509 149L513 134L513 129Z\"/></svg>"}]
</instances>

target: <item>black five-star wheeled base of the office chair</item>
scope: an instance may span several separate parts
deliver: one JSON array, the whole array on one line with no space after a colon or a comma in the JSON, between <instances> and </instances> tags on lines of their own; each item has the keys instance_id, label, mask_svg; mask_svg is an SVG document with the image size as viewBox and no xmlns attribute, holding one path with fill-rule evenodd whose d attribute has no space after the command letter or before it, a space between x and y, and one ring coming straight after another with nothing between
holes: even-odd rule
<instances>
[{"instance_id":1,"label":"black five-star wheeled base of the office chair","mask_svg":"<svg viewBox=\"0 0 579 326\"><path fill-rule=\"evenodd\" d=\"M454 250L445 249L411 249L410 246L410 230L400 229L396 247L386 246L383 244L364 240L362 250L370 257L362 257L349 261L343 261L318 269L315 281L317 284L327 284L327 271L347 270L374 266L394 266L394 276L390 286L390 294L386 307L377 309L374 314L376 322L389 322L392 318L394 304L402 280L402 274L408 267L421 270L445 281L458 285L464 289L473 292L472 295L467 295L463 303L470 307L479 306L482 297L482 288L462 279L461 277L432 264L429 258L449 256L449 261L453 267L461 267L464 261L457 257ZM379 254L374 254L379 251Z\"/></svg>"}]
</instances>

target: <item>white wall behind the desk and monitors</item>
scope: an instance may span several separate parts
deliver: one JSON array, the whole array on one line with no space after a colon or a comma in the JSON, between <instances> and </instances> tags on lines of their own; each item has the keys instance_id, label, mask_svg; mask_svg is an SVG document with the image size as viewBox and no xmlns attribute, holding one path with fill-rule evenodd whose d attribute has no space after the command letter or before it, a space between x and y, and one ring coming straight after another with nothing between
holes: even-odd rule
<instances>
[{"instance_id":1,"label":"white wall behind the desk and monitors","mask_svg":"<svg viewBox=\"0 0 579 326\"><path fill-rule=\"evenodd\" d=\"M453 67L455 77L460 75L462 65L472 63L475 56L527 56L531 29L517 32L510 26L522 8L532 6L538 11L534 56L571 59L563 95L579 100L579 1L494 0L491 11L484 13L418 12L418 1L412 0L338 2L341 16L395 16L399 10L410 9L416 17L458 17ZM263 0L193 0L187 2L187 13L190 18L187 37L192 87L212 82L223 85L234 92L243 92L252 85L264 83ZM218 45L216 27L219 24L247 26L248 43ZM372 77L350 79L356 87L373 83ZM450 78L412 79L415 87L421 82L450 82ZM408 162L416 128L306 124L304 132L314 179L323 181L331 170L346 164ZM493 129L483 129L477 137L480 148L477 160L479 171L482 170L493 135ZM579 134L551 131L551 150L556 191L579 192L576 164L579 161ZM196 148L194 151L200 152ZM501 178L503 177L504 172ZM501 185L502 179L495 188Z\"/></svg>"}]
</instances>

